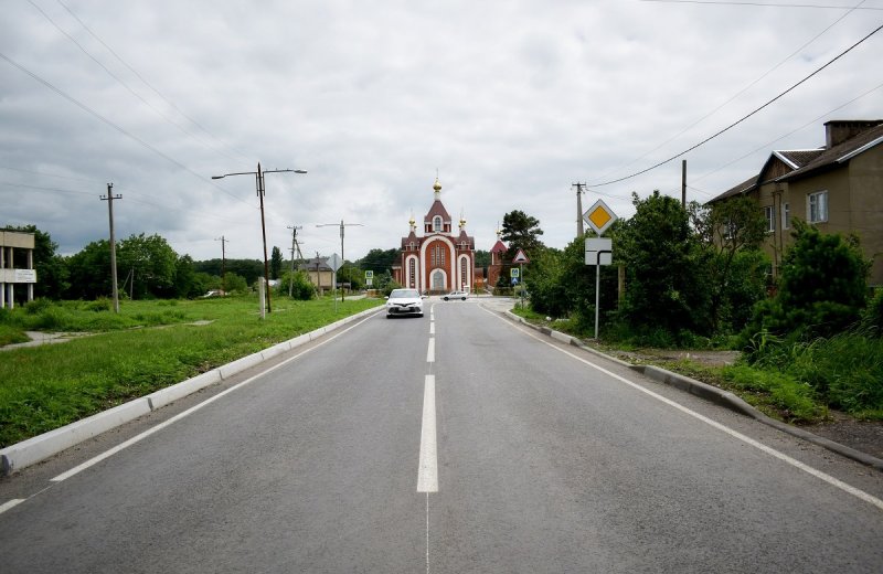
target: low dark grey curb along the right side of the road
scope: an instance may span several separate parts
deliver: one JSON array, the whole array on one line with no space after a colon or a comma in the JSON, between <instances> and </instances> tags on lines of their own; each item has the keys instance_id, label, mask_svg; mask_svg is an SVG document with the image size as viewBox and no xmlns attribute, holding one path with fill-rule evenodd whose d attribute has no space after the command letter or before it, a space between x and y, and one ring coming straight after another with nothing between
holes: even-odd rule
<instances>
[{"instance_id":1,"label":"low dark grey curb along the right side of the road","mask_svg":"<svg viewBox=\"0 0 883 574\"><path fill-rule=\"evenodd\" d=\"M783 423L781 421L776 421L775 418L770 418L728 391L724 391L723 389L717 389L716 386L703 383L701 381L696 381L695 379L691 379L682 374L672 373L671 371L667 371L666 369L661 369L659 366L628 363L626 361L623 361L615 357L610 357L608 354L598 351L597 349L593 349L584 344L576 337L552 330L547 327L540 327L536 325L532 325L526 320L524 320L524 318L519 317L512 311L504 311L504 315L509 319L515 322L520 322L526 327L530 327L535 331L540 331L541 333L546 334L552 339L565 342L573 347L578 347L579 349L588 351L589 353L603 357L623 366L627 366L632 371L637 371L643 374L645 376L652 379L653 381L667 384L669 386L673 386L692 395L699 396L700 398L703 398L705 401L710 401L725 408L730 408L731 411L735 411L741 415L754 418L765 425L777 428L783 433L788 433L791 436L802 438L804 440L827 448L828 450L837 453L841 456L844 456L863 465L876 468L877 470L883 470L883 459L869 455L868 453L862 453L861 450L857 450L847 445L834 443L833 440L815 435L808 431L804 431L802 428L798 428L787 423Z\"/></svg>"}]
</instances>

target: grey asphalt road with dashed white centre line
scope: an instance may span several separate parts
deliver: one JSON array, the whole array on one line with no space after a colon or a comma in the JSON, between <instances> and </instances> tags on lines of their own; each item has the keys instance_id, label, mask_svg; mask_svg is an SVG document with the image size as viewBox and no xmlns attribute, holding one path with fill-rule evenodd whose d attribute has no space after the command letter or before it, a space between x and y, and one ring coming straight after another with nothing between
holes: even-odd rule
<instances>
[{"instance_id":1,"label":"grey asphalt road with dashed white centre line","mask_svg":"<svg viewBox=\"0 0 883 574\"><path fill-rule=\"evenodd\" d=\"M0 571L880 572L881 472L429 309L4 479Z\"/></svg>"}]
</instances>

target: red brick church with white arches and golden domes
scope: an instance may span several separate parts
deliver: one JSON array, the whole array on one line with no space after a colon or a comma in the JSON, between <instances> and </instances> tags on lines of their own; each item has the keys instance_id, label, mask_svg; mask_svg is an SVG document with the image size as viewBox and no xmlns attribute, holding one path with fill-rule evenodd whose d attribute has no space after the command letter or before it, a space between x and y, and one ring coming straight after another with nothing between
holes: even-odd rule
<instances>
[{"instance_id":1,"label":"red brick church with white arches and golden domes","mask_svg":"<svg viewBox=\"0 0 883 574\"><path fill-rule=\"evenodd\" d=\"M476 241L466 234L466 220L460 216L454 231L450 214L442 203L442 183L436 178L435 201L423 217L422 234L411 217L411 233L402 237L402 255L393 266L398 284L432 294L453 290L471 291L476 283Z\"/></svg>"}]
</instances>

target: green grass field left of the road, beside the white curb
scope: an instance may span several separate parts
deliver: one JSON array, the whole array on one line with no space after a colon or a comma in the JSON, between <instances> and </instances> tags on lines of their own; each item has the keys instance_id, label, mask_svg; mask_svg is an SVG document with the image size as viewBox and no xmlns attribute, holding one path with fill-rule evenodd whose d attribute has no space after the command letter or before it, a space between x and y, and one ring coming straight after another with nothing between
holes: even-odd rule
<instances>
[{"instance_id":1,"label":"green grass field left of the road, beside the white curb","mask_svg":"<svg viewBox=\"0 0 883 574\"><path fill-rule=\"evenodd\" d=\"M143 396L232 360L381 305L377 299L252 298L128 301L117 316L89 304L42 305L0 316L0 337L21 325L89 331L63 344L0 351L0 447ZM51 318L51 319L49 319ZM209 325L189 325L212 321Z\"/></svg>"}]
</instances>

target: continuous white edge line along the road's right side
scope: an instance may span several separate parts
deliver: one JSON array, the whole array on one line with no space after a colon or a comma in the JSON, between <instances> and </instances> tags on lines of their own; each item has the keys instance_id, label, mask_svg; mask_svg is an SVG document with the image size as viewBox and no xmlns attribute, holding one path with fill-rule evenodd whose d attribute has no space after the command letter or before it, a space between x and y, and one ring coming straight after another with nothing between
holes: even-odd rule
<instances>
[{"instance_id":1,"label":"continuous white edge line along the road's right side","mask_svg":"<svg viewBox=\"0 0 883 574\"><path fill-rule=\"evenodd\" d=\"M861 500L863 500L863 501L865 501L865 502L868 502L870 504L873 504L876 508L879 508L880 510L883 510L883 500L876 498L873 495L870 495L870 493L865 492L864 490L860 490L860 489L858 489L855 487L847 485L842 480L840 480L838 478L834 478L831 475L822 472L821 470L819 470L817 468L812 468L811 466L806 465L806 464L797 460L796 458L791 458L790 456L786 455L785 453L780 453L780 451L776 450L775 448L768 447L768 446L764 445L763 443L759 443L759 442L755 440L754 438L751 438L748 436L743 435L738 431L734 431L733 428L730 428L728 426L725 426L725 425L723 425L723 424L721 424L721 423L719 423L716 421L712 421L711 418L709 418L709 417L706 417L704 415L701 415L701 414L696 413L695 411L691 411L690 408L688 408L688 407L685 407L685 406L683 406L683 405L681 405L679 403L675 403L674 401L671 401L670 398L666 398L664 396L662 396L660 394L657 394L657 393L650 391L649 389L645 389L645 387L642 387L641 385L639 385L637 383L632 383L628 379L624 379L624 378L619 376L616 373L611 373L610 371L608 371L608 370L606 370L606 369L604 369L602 366L598 366L597 364L595 364L595 363L593 363L591 361L587 361L587 360L583 359L582 357L577 357L577 355L573 354L570 351L565 351L564 349L561 349L560 347L550 343L549 341L544 341L543 339L540 339L539 337L534 336L531 332L524 331L522 329L518 329L518 327L515 325L513 325L512 322L510 322L509 320L503 319L502 317L500 317L500 316L498 316L498 315L496 315L496 313L493 313L491 311L488 311L487 309L482 308L482 310L485 310L486 312L489 312L490 315L497 317L498 319L500 319L501 321L506 322L507 325L509 325L513 329L517 329L518 331L526 334L528 337L530 337L532 339L535 339L536 341L540 341L543 344L547 344L549 347L551 347L552 349L554 349L554 350L556 350L558 352L562 352L562 353L573 358L573 359L576 359L577 361L579 361L582 363L585 363L588 366L592 366L593 369L595 369L597 371L600 371L602 373L604 373L604 374L606 374L608 376L611 376L613 379L616 379L617 381L631 386L632 389L636 389L636 390L638 390L638 391L640 391L640 392L642 392L642 393L645 393L645 394L647 394L649 396L652 396L653 398L656 398L658 401L661 401L662 403L666 403L667 405L672 406L672 407L677 408L678 411L681 411L681 412L692 416L693 418L702 421L703 423L708 424L709 426L712 426L714 428L717 428L719 431L722 431L722 432L726 433L727 435L732 436L733 438L742 440L743 443L745 443L747 445L751 445L751 446L757 448L758 450L762 450L762 451L764 451L764 453L766 453L766 454L768 454L768 455L770 455L770 456L773 456L775 458L778 458L779 460L781 460L784 463L787 463L788 465L791 465L795 468L798 468L798 469L800 469L800 470L802 470L802 471L805 471L805 472L807 472L809 475L812 475L813 477L816 477L816 478L818 478L820 480L823 480L823 481L828 482L829 485L831 485L831 486L833 486L836 488L839 488L840 490L854 496L855 498L859 498L859 499L861 499Z\"/></svg>"}]
</instances>

